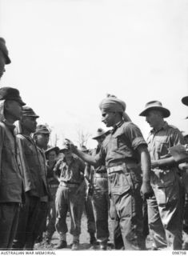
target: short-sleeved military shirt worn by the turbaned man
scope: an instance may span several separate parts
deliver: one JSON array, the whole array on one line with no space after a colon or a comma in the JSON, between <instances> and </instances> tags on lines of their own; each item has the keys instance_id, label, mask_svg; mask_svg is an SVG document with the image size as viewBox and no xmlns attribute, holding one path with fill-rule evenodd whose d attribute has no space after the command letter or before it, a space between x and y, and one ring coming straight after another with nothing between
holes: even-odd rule
<instances>
[{"instance_id":1,"label":"short-sleeved military shirt worn by the turbaned man","mask_svg":"<svg viewBox=\"0 0 188 256\"><path fill-rule=\"evenodd\" d=\"M117 166L126 161L139 162L137 148L140 145L147 146L138 126L133 122L119 122L102 142L99 161L105 159L106 167Z\"/></svg>"}]
</instances>

